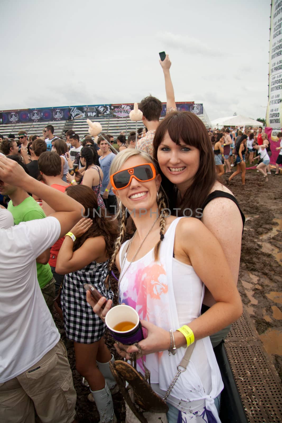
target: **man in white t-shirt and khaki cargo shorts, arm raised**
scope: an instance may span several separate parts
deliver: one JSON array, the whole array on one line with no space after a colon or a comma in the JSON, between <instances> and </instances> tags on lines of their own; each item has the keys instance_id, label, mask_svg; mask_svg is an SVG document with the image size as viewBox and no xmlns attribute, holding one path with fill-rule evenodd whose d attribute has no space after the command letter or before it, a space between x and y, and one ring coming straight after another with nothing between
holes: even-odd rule
<instances>
[{"instance_id":1,"label":"man in white t-shirt and khaki cargo shorts, arm raised","mask_svg":"<svg viewBox=\"0 0 282 423\"><path fill-rule=\"evenodd\" d=\"M0 157L0 180L41 197L55 210L41 220L0 228L0 421L75 422L76 392L66 348L36 276L36 257L65 235L83 207Z\"/></svg>"}]
</instances>

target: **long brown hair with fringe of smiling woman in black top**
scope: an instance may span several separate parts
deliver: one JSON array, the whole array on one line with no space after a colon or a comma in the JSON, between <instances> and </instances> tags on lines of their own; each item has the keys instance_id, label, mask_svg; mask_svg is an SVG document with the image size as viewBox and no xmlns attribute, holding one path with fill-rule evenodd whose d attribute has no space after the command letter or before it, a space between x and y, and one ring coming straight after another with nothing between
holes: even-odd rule
<instances>
[{"instance_id":1,"label":"long brown hair with fringe of smiling woman in black top","mask_svg":"<svg viewBox=\"0 0 282 423\"><path fill-rule=\"evenodd\" d=\"M185 144L196 147L200 151L199 168L179 204L181 214L184 209L189 208L192 210L192 216L195 216L196 209L202 207L217 179L211 140L205 125L194 113L171 112L156 129L153 140L153 158L155 160L157 160L158 147L167 132L175 144L179 145L180 140L182 140ZM164 176L162 171L160 174L162 176L162 187L170 202L170 209L175 208L177 205L177 188Z\"/></svg>"}]
</instances>

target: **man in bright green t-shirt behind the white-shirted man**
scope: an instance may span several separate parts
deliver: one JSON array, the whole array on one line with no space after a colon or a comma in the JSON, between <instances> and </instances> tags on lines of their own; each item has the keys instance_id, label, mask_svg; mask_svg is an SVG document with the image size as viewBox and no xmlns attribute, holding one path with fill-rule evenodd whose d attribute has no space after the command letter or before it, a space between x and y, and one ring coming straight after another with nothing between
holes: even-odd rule
<instances>
[{"instance_id":1,"label":"man in bright green t-shirt behind the white-shirted man","mask_svg":"<svg viewBox=\"0 0 282 423\"><path fill-rule=\"evenodd\" d=\"M16 156L9 156L10 159L15 160L28 173L26 165L21 162ZM0 194L8 195L11 201L8 203L8 210L14 217L14 224L18 225L20 222L28 222L29 220L44 219L46 217L44 211L39 204L22 188L15 187L7 183L1 183ZM47 306L51 313L53 312L53 301L55 298L55 279L49 261L50 250L44 251L36 258L37 279L41 292L45 298ZM25 260L25 251L19 260Z\"/></svg>"}]
</instances>

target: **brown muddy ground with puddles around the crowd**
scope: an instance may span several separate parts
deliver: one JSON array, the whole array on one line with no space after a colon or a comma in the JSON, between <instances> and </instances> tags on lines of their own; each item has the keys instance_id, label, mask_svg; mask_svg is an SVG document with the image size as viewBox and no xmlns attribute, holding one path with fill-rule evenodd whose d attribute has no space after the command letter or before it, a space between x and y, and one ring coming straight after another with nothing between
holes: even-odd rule
<instances>
[{"instance_id":1,"label":"brown muddy ground with puddles around the crowd","mask_svg":"<svg viewBox=\"0 0 282 423\"><path fill-rule=\"evenodd\" d=\"M271 175L266 182L255 170L247 170L246 185L243 187L241 178L236 176L229 188L246 215L238 289L282 379L282 174ZM111 284L115 289L114 278ZM56 323L66 341L63 324L58 319ZM112 338L107 334L106 342L116 357ZM75 370L73 347L69 345L67 349L77 391L77 419L81 423L97 423L95 404L87 399L89 388L82 386L82 378ZM123 398L118 393L113 400L118 422L122 423Z\"/></svg>"}]
</instances>

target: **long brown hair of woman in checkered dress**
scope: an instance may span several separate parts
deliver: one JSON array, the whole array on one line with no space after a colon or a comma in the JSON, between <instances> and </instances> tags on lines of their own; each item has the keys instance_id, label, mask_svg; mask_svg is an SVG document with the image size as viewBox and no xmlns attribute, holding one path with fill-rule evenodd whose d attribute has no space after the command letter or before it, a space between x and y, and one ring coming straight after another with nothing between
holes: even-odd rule
<instances>
[{"instance_id":1,"label":"long brown hair of woman in checkered dress","mask_svg":"<svg viewBox=\"0 0 282 423\"><path fill-rule=\"evenodd\" d=\"M93 221L93 225L88 231L74 241L74 250L78 250L86 239L90 237L103 236L106 242L107 257L110 257L117 237L117 231L112 220L105 217L104 209L98 209L95 192L87 185L74 185L67 187L66 193L69 197L82 204L85 208L85 217L89 217ZM89 215L87 216L87 214Z\"/></svg>"}]
</instances>

